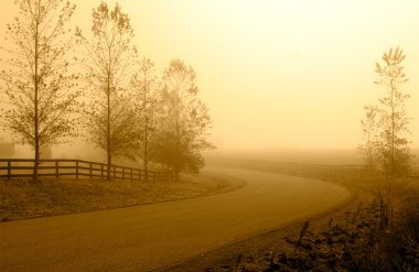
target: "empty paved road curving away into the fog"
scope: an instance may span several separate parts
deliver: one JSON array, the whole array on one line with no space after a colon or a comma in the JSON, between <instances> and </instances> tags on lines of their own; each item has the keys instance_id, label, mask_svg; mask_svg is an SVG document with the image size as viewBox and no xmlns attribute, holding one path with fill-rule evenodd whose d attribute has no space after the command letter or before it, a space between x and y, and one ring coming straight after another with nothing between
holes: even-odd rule
<instances>
[{"instance_id":1,"label":"empty paved road curving away into the fog","mask_svg":"<svg viewBox=\"0 0 419 272\"><path fill-rule=\"evenodd\" d=\"M346 189L299 177L222 167L244 179L229 193L0 224L0 271L149 271L333 209Z\"/></svg>"}]
</instances>

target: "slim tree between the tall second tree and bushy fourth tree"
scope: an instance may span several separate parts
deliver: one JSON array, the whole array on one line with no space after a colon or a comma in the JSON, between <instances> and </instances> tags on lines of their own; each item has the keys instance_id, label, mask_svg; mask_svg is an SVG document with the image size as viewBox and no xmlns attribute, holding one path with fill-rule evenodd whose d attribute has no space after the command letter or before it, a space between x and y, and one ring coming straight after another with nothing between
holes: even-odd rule
<instances>
[{"instance_id":1,"label":"slim tree between the tall second tree and bushy fourth tree","mask_svg":"<svg viewBox=\"0 0 419 272\"><path fill-rule=\"evenodd\" d=\"M133 155L143 163L144 178L148 179L149 163L157 153L157 131L160 100L160 81L155 75L154 63L143 58L139 70L131 79L136 90L136 148Z\"/></svg>"}]
</instances>

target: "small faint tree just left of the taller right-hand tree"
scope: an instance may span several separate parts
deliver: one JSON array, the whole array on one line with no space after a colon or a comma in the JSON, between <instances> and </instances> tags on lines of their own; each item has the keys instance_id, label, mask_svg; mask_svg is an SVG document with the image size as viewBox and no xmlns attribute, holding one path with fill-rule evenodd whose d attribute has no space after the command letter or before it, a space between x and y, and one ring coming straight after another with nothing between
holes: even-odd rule
<instances>
[{"instance_id":1,"label":"small faint tree just left of the taller right-hand tree","mask_svg":"<svg viewBox=\"0 0 419 272\"><path fill-rule=\"evenodd\" d=\"M359 144L358 149L365 155L369 168L375 170L379 157L377 142L379 111L376 106L365 106L364 110L366 111L365 119L361 120L364 142Z\"/></svg>"}]
</instances>

